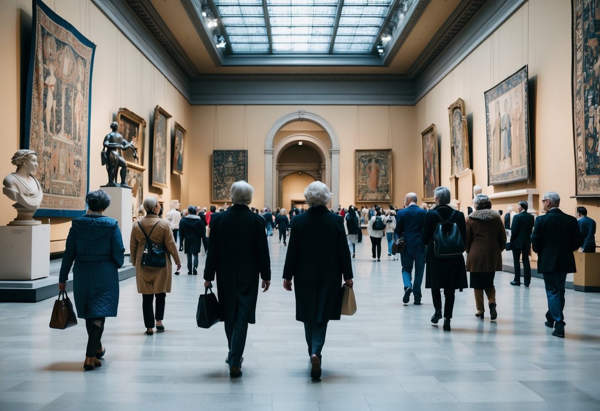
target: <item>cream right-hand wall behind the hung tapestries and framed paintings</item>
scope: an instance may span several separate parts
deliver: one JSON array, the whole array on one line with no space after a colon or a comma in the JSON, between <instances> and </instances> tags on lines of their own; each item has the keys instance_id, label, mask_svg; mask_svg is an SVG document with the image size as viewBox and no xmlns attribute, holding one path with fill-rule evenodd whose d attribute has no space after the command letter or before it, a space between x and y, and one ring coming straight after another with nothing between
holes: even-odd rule
<instances>
[{"instance_id":1,"label":"cream right-hand wall behind the hung tapestries and framed paintings","mask_svg":"<svg viewBox=\"0 0 600 411\"><path fill-rule=\"evenodd\" d=\"M557 191L566 213L574 214L577 205L588 205L589 215L600 218L597 200L569 198L575 194L570 16L571 2L530 0L415 105L416 131L431 123L437 125L442 185L449 184L451 170L447 107L460 97L465 101L467 116L473 120L472 169L475 183L484 188L484 194L536 188L540 195L530 208L541 210L541 194ZM484 92L526 64L533 179L488 186ZM413 153L421 158L420 144ZM506 210L512 205L516 210L519 200L526 198L497 199L493 208Z\"/></svg>"}]
</instances>

